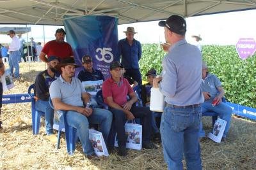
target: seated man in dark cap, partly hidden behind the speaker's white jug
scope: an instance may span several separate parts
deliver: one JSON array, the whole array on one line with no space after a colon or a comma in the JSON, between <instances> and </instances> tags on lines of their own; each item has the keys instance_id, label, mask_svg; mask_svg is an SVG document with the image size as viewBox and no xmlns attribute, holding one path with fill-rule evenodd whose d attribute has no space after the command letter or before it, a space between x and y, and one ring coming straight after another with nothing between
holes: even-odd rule
<instances>
[{"instance_id":1,"label":"seated man in dark cap, partly hidden behind the speaker's white jug","mask_svg":"<svg viewBox=\"0 0 256 170\"><path fill-rule=\"evenodd\" d=\"M151 88L153 87L153 79L156 78L156 69L150 69L147 74L147 79L148 83L145 85L141 85L141 100L143 103L143 106L150 106L150 93L151 93ZM152 128L153 128L153 139L154 140L161 140L160 132L159 129L156 125L156 118L154 117L155 115L157 117L161 117L162 113L153 111L152 112Z\"/></svg>"}]
</instances>

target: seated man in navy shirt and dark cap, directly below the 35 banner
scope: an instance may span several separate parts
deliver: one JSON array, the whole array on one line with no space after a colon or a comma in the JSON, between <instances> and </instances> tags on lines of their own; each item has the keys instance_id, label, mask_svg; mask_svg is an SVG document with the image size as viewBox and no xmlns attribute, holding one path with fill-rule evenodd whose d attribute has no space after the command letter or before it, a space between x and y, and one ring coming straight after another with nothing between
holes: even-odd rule
<instances>
[{"instance_id":1,"label":"seated man in navy shirt and dark cap, directly below the 35 banner","mask_svg":"<svg viewBox=\"0 0 256 170\"><path fill-rule=\"evenodd\" d=\"M97 70L97 69L93 69L93 62L92 62L92 57L90 57L90 55L84 55L82 58L82 63L84 66L84 69L81 70L78 75L77 78L80 81L97 81L97 80L102 80L104 81L104 76L103 74ZM97 108L98 104L95 101L94 98L91 99L91 104L93 106L93 108Z\"/></svg>"}]
</instances>

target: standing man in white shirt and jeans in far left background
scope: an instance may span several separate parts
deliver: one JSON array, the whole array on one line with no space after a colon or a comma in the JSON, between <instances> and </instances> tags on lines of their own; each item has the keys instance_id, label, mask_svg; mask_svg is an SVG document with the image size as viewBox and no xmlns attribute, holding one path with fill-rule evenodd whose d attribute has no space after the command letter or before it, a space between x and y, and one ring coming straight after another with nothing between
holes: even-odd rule
<instances>
[{"instance_id":1,"label":"standing man in white shirt and jeans in far left background","mask_svg":"<svg viewBox=\"0 0 256 170\"><path fill-rule=\"evenodd\" d=\"M10 30L7 34L12 38L12 42L9 46L9 65L10 71L13 74L13 67L15 68L14 78L19 78L19 57L20 57L20 40L15 36L15 32Z\"/></svg>"}]
</instances>

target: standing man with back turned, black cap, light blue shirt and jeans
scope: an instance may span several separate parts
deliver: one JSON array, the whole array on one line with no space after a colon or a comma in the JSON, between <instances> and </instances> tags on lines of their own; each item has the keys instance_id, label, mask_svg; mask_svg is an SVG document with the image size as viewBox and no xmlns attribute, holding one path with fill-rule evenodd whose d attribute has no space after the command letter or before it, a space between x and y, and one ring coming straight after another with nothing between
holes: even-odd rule
<instances>
[{"instance_id":1,"label":"standing man with back turned, black cap, light blue shirt and jeans","mask_svg":"<svg viewBox=\"0 0 256 170\"><path fill-rule=\"evenodd\" d=\"M202 117L201 90L202 55L198 48L185 39L186 21L172 15L159 22L164 27L166 43L172 46L164 56L163 77L153 85L165 96L166 106L161 119L164 159L168 169L182 170L183 155L187 169L202 169L198 132ZM160 81L159 85L158 82Z\"/></svg>"}]
</instances>

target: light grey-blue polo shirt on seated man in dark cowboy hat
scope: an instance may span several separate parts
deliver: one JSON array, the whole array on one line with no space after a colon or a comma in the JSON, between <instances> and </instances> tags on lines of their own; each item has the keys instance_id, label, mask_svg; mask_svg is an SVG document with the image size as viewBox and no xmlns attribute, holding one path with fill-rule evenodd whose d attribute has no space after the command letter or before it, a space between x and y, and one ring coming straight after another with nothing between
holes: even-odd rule
<instances>
[{"instance_id":1,"label":"light grey-blue polo shirt on seated man in dark cowboy hat","mask_svg":"<svg viewBox=\"0 0 256 170\"><path fill-rule=\"evenodd\" d=\"M72 106L83 107L82 94L85 89L80 80L72 78L71 83L65 81L62 76L51 83L50 89L51 99L60 98L61 102Z\"/></svg>"}]
</instances>

